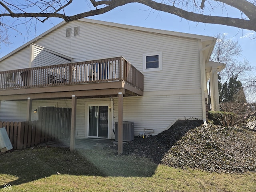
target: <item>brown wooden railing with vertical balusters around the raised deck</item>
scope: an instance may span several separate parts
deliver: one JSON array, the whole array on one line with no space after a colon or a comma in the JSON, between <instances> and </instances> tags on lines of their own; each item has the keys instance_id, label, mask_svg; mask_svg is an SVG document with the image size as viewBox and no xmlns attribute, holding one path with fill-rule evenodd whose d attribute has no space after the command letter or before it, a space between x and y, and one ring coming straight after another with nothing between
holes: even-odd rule
<instances>
[{"instance_id":1,"label":"brown wooden railing with vertical balusters around the raised deck","mask_svg":"<svg viewBox=\"0 0 256 192\"><path fill-rule=\"evenodd\" d=\"M143 74L123 57L0 72L0 90L124 81L143 90Z\"/></svg>"}]
</instances>

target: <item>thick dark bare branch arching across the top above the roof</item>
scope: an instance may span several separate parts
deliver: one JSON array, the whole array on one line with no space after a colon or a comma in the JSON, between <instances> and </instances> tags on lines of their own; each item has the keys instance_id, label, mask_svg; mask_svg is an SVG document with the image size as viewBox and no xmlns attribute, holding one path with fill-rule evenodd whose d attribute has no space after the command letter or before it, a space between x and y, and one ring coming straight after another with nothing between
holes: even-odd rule
<instances>
[{"instance_id":1,"label":"thick dark bare branch arching across the top above the roof","mask_svg":"<svg viewBox=\"0 0 256 192\"><path fill-rule=\"evenodd\" d=\"M155 0L90 0L92 5L96 8L95 10L90 10L88 12L83 12L80 14L76 14L73 16L66 16L64 14L58 13L60 10L63 10L64 7L68 6L69 4L72 3L72 0L69 0L67 4L64 6L55 6L52 8L54 10L53 13L46 12L46 13L14 13L12 10L6 6L2 1L0 1L0 5L2 5L9 13L3 13L0 14L0 17L3 16L10 16L13 18L20 18L20 17L34 17L34 18L40 18L43 17L44 22L50 17L58 17L64 19L66 22L72 21L72 20L77 20L80 18L88 17L88 16L94 16L98 14L103 14L106 13L110 10L113 10L116 7L123 6L125 4L129 3L140 3L144 4L146 6L151 7L154 10L158 11L163 11L167 12L170 14L174 14L177 16L180 16L181 18L185 18L190 21L194 22L202 22L202 23L209 23L209 24L221 24L221 25L227 25L227 26L233 26L237 28L243 28L243 29L248 29L248 30L253 30L256 31L256 6L252 4L251 2L247 0L215 0L216 2L222 2L224 4L233 6L234 8L238 8L241 12L246 14L248 16L249 20L243 19L243 18L231 18L231 17L223 17L223 16L211 16L211 15L205 15L201 13L195 13L195 12L189 12L184 8L178 8L178 6L174 5L168 5L164 3L159 3L156 2ZM40 2L40 1L38 1ZM162 1L163 2L163 1ZM181 1L182 2L182 1ZM201 8L204 7L205 0L202 0L201 2ZM9 4L10 5L10 4ZM12 5L10 5L12 6ZM98 9L98 6L103 6L103 8ZM192 6L192 5L191 5ZM193 5L195 6L195 5ZM22 10L22 9L19 9ZM47 9L46 9L47 10Z\"/></svg>"}]
</instances>

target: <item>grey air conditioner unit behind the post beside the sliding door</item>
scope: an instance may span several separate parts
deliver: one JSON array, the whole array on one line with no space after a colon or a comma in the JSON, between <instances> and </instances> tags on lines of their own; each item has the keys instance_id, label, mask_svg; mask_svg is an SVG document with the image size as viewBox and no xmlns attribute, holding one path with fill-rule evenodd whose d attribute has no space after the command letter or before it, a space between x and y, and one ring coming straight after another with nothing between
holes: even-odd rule
<instances>
[{"instance_id":1,"label":"grey air conditioner unit behind the post beside the sliding door","mask_svg":"<svg viewBox=\"0 0 256 192\"><path fill-rule=\"evenodd\" d=\"M118 122L115 123L115 140L118 141ZM134 126L133 122L123 122L123 141L134 140Z\"/></svg>"}]
</instances>

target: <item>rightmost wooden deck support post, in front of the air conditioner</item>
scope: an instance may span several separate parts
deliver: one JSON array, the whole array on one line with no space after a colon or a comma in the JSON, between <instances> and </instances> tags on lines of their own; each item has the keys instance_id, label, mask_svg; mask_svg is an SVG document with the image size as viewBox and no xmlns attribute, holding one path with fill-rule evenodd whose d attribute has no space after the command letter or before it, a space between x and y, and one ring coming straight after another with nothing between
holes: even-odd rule
<instances>
[{"instance_id":1,"label":"rightmost wooden deck support post, in front of the air conditioner","mask_svg":"<svg viewBox=\"0 0 256 192\"><path fill-rule=\"evenodd\" d=\"M123 153L123 94L118 92L118 155Z\"/></svg>"}]
</instances>

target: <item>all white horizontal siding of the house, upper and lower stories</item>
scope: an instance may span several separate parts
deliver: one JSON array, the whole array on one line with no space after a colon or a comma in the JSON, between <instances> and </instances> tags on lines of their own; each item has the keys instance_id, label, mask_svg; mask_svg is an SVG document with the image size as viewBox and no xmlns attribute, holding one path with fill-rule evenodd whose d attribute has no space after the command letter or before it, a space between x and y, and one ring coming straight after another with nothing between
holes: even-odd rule
<instances>
[{"instance_id":1,"label":"all white horizontal siding of the house, upper and lower stories","mask_svg":"<svg viewBox=\"0 0 256 192\"><path fill-rule=\"evenodd\" d=\"M72 35L66 38L66 29L74 30L76 26L79 26L79 36ZM144 96L124 97L123 112L124 121L134 122L136 136L143 132L144 128L153 129L154 134L158 134L179 118L203 118L202 107L205 106L202 106L200 82L198 50L200 40L196 38L74 21L50 32L35 43L48 50L74 58L73 62L123 56L140 70L144 74ZM162 70L144 72L143 54L159 52L162 53ZM23 56L23 53L26 54ZM34 66L58 64L59 58L48 57L47 52L36 53L35 50L35 54L37 55ZM22 65L17 64L20 58ZM31 56L21 50L10 59L3 60L0 70L6 63L9 68L6 67L5 70L10 70L21 68L20 66L25 63L28 65L30 60ZM58 62L64 63L65 61L60 59ZM113 99L114 122L118 122L118 98ZM78 99L77 101L76 137L86 137L85 106L86 102L94 100ZM98 99L98 101L103 100L110 101L110 98ZM71 107L71 99L35 100L32 102L32 111L38 106L52 106L53 104L56 107ZM26 104L24 107L26 110ZM20 113L24 113L24 110ZM32 114L33 120L36 117L36 114ZM114 138L113 133L112 138Z\"/></svg>"}]
</instances>

